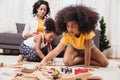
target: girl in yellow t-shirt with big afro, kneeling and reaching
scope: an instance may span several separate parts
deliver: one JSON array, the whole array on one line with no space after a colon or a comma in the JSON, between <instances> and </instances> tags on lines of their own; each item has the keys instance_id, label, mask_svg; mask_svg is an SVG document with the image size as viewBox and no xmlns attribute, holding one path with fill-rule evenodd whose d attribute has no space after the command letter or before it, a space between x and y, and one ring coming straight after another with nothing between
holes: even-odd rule
<instances>
[{"instance_id":1,"label":"girl in yellow t-shirt with big afro, kneeling and reaching","mask_svg":"<svg viewBox=\"0 0 120 80\"><path fill-rule=\"evenodd\" d=\"M59 32L61 34L64 32L63 37L57 47L44 57L38 67L45 65L65 47L63 62L66 66L79 63L84 63L87 67L90 65L108 66L107 58L92 40L99 19L97 12L82 5L68 6L60 10L55 19Z\"/></svg>"}]
</instances>

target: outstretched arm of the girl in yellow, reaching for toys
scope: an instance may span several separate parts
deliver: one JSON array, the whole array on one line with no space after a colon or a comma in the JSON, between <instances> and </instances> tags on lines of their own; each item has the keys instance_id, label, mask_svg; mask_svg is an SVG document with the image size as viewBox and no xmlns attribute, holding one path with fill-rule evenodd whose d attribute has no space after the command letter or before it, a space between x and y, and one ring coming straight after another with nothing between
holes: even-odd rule
<instances>
[{"instance_id":1,"label":"outstretched arm of the girl in yellow, reaching for toys","mask_svg":"<svg viewBox=\"0 0 120 80\"><path fill-rule=\"evenodd\" d=\"M55 47L51 52L49 52L49 54L47 54L47 56L45 56L43 58L43 60L38 64L39 66L43 66L45 65L48 61L50 61L51 59L53 59L54 57L56 57L58 54L60 54L60 52L65 48L65 45L63 43L59 43L57 45L57 47Z\"/></svg>"}]
</instances>

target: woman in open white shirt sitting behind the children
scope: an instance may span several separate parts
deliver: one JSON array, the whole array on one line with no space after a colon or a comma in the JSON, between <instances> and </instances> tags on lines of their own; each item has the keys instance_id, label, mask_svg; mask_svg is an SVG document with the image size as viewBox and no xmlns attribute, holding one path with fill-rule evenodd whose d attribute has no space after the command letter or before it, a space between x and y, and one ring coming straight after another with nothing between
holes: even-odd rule
<instances>
[{"instance_id":1,"label":"woman in open white shirt sitting behind the children","mask_svg":"<svg viewBox=\"0 0 120 80\"><path fill-rule=\"evenodd\" d=\"M27 39L36 34L44 32L44 19L50 15L50 8L47 1L38 0L33 5L34 18L26 23L22 36Z\"/></svg>"}]
</instances>

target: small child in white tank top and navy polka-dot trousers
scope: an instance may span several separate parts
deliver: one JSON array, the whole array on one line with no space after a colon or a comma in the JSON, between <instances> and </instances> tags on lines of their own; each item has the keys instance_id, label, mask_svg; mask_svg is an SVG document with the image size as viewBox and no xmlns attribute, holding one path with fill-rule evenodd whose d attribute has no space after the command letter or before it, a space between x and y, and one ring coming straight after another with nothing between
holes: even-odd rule
<instances>
[{"instance_id":1,"label":"small child in white tank top and navy polka-dot trousers","mask_svg":"<svg viewBox=\"0 0 120 80\"><path fill-rule=\"evenodd\" d=\"M21 54L19 55L18 62L23 61L23 59L39 62L51 51L50 43L57 36L54 20L51 18L46 19L45 27L45 33L30 37L23 41L19 47ZM47 48L47 53L42 51L44 47Z\"/></svg>"}]
</instances>

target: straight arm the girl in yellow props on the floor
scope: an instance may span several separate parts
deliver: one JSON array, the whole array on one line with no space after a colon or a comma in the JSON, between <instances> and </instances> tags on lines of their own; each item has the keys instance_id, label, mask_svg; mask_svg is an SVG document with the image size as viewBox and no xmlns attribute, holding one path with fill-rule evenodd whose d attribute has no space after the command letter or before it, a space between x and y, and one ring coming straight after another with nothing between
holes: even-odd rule
<instances>
[{"instance_id":1,"label":"straight arm the girl in yellow props on the floor","mask_svg":"<svg viewBox=\"0 0 120 80\"><path fill-rule=\"evenodd\" d=\"M91 59L91 39L85 40L85 56L84 56L84 61L85 61L85 66L90 65L90 59Z\"/></svg>"}]
</instances>

